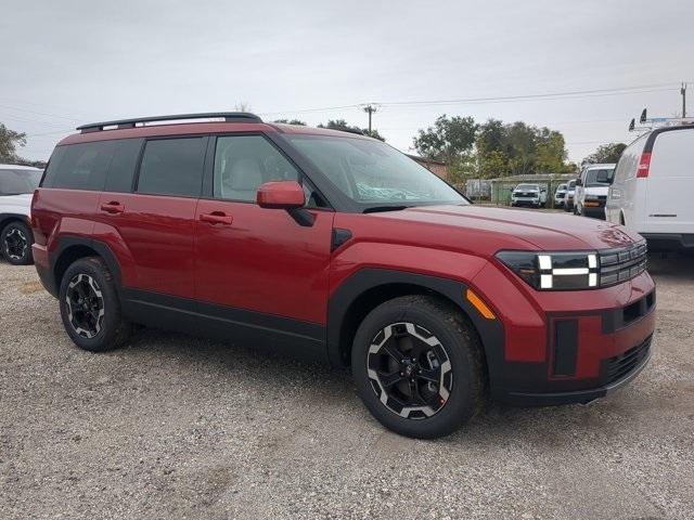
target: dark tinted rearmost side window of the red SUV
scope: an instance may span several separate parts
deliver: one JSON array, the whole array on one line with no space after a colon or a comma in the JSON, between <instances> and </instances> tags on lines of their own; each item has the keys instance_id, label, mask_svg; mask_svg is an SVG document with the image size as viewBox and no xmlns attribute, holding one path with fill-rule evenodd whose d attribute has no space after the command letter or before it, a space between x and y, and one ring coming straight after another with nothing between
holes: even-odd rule
<instances>
[{"instance_id":1,"label":"dark tinted rearmost side window of the red SUV","mask_svg":"<svg viewBox=\"0 0 694 520\"><path fill-rule=\"evenodd\" d=\"M51 156L43 186L66 190L104 188L115 141L59 146Z\"/></svg>"}]
</instances>

